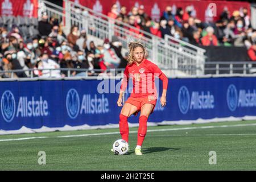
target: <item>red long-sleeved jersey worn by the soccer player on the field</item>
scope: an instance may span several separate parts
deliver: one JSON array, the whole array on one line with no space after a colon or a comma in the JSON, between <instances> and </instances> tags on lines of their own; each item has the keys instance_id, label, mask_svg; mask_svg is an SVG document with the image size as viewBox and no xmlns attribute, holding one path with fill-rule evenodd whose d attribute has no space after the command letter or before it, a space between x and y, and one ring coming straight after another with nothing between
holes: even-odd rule
<instances>
[{"instance_id":1,"label":"red long-sleeved jersey worn by the soccer player on the field","mask_svg":"<svg viewBox=\"0 0 256 182\"><path fill-rule=\"evenodd\" d=\"M124 74L121 90L125 91L129 78L132 78L131 97L156 96L155 76L163 81L163 89L167 89L168 86L168 78L157 65L147 59L144 59L139 66L135 63L127 65Z\"/></svg>"}]
</instances>

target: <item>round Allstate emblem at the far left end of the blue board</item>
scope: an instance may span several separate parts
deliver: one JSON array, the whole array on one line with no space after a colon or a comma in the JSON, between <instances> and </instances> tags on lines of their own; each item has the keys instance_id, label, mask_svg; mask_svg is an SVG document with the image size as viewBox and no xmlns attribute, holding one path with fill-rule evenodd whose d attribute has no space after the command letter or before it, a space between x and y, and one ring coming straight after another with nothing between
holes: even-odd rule
<instances>
[{"instance_id":1,"label":"round Allstate emblem at the far left end of the blue board","mask_svg":"<svg viewBox=\"0 0 256 182\"><path fill-rule=\"evenodd\" d=\"M3 119L6 122L11 122L15 115L15 99L10 90L6 90L1 98L1 111Z\"/></svg>"}]
</instances>

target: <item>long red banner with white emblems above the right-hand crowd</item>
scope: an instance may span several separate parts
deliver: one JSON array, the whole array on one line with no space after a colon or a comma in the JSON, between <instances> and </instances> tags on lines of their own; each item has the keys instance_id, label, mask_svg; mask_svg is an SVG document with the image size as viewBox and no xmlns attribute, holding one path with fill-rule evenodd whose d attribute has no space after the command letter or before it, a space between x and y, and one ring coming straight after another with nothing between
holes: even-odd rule
<instances>
[{"instance_id":1,"label":"long red banner with white emblems above the right-hand crowd","mask_svg":"<svg viewBox=\"0 0 256 182\"><path fill-rule=\"evenodd\" d=\"M74 1L74 0L73 0ZM117 6L126 6L127 13L133 6L139 7L144 5L144 10L154 20L159 20L160 16L163 15L163 11L166 6L172 6L172 11L175 14L178 7L182 7L185 10L188 6L192 7L192 16L199 18L203 22L217 20L224 9L228 9L230 15L233 11L241 11L242 7L246 7L250 15L250 3L239 2L239 1L193 1L193 0L76 0L80 5L89 7L99 13L108 14L111 6L116 3ZM213 10L216 7L215 10ZM216 14L213 15L213 13Z\"/></svg>"}]
</instances>

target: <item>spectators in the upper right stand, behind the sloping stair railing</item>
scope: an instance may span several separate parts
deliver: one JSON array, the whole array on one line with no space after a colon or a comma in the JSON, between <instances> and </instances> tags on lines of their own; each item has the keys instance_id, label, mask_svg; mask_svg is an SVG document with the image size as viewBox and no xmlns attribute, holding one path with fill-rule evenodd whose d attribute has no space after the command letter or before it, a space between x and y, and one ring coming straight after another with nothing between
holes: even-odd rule
<instances>
[{"instance_id":1,"label":"spectators in the upper right stand, behind the sloping stair railing","mask_svg":"<svg viewBox=\"0 0 256 182\"><path fill-rule=\"evenodd\" d=\"M191 15L192 6L187 6L185 10L178 7L176 14L172 12L172 7L167 6L160 17L160 21L156 22L144 12L143 5L133 7L128 13L125 6L122 6L118 11L118 6L114 4L108 16L161 38L164 38L164 35L170 35L197 46L255 44L256 30L251 28L250 17L247 15L246 8L243 8L241 13L237 10L232 14L225 9L218 18L219 20L213 23L202 22L193 17ZM131 31L135 30L131 28Z\"/></svg>"}]
</instances>

